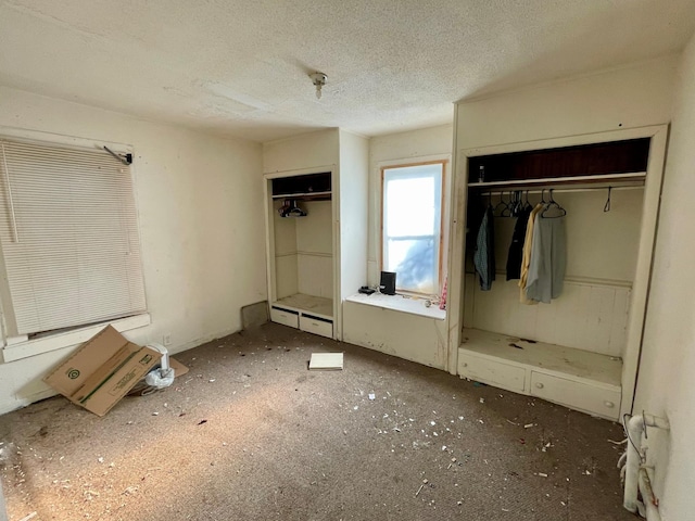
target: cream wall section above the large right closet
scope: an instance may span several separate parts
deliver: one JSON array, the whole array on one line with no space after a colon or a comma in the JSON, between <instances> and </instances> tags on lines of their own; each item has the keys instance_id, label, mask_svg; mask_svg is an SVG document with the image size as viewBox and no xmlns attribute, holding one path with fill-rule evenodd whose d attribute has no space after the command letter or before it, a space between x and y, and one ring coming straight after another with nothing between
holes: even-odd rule
<instances>
[{"instance_id":1,"label":"cream wall section above the large right closet","mask_svg":"<svg viewBox=\"0 0 695 521\"><path fill-rule=\"evenodd\" d=\"M668 123L678 56L458 104L458 148Z\"/></svg>"}]
</instances>

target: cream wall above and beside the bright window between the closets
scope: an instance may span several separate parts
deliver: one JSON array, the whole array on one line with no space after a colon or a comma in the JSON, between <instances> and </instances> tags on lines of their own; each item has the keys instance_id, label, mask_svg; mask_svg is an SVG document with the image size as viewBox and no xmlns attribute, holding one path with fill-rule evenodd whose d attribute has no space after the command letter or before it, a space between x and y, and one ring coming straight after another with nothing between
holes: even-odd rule
<instances>
[{"instance_id":1,"label":"cream wall above and beside the bright window between the closets","mask_svg":"<svg viewBox=\"0 0 695 521\"><path fill-rule=\"evenodd\" d=\"M381 271L381 165L400 161L416 163L420 157L451 154L452 140L452 125L440 125L371 138L369 143L369 243L367 253L369 284L379 283L379 272ZM450 186L451 175L444 181L446 186ZM445 198L445 201L448 202L448 198ZM448 224L448 211L450 208L446 207L445 224ZM448 233L445 233L445 237L447 236ZM447 244L444 244L444 252L446 252L446 247ZM445 264L446 262L444 262Z\"/></svg>"}]
</instances>

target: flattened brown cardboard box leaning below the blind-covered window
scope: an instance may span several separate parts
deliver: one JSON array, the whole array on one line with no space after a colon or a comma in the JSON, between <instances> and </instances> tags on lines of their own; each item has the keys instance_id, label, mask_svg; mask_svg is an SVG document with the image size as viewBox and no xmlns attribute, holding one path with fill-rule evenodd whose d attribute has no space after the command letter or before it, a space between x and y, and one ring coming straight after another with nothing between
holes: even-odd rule
<instances>
[{"instance_id":1,"label":"flattened brown cardboard box leaning below the blind-covered window","mask_svg":"<svg viewBox=\"0 0 695 521\"><path fill-rule=\"evenodd\" d=\"M104 416L161 357L159 351L128 342L108 326L43 381L74 404Z\"/></svg>"}]
</instances>

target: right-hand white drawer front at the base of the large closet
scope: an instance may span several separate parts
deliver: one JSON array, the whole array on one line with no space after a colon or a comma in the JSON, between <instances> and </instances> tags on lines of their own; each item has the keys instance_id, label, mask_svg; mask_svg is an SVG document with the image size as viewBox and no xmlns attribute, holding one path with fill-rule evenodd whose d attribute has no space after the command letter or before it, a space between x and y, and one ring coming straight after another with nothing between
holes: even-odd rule
<instances>
[{"instance_id":1,"label":"right-hand white drawer front at the base of the large closet","mask_svg":"<svg viewBox=\"0 0 695 521\"><path fill-rule=\"evenodd\" d=\"M532 371L531 394L566 405L571 409L617 420L620 416L620 391Z\"/></svg>"}]
</instances>

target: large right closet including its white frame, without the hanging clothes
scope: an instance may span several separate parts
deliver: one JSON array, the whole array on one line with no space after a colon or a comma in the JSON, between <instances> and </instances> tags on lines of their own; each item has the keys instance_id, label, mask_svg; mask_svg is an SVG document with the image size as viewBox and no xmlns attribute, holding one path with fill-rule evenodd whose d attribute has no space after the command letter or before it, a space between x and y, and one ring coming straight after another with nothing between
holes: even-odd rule
<instances>
[{"instance_id":1,"label":"large right closet including its white frame, without the hanging clothes","mask_svg":"<svg viewBox=\"0 0 695 521\"><path fill-rule=\"evenodd\" d=\"M650 127L462 151L462 378L612 420L631 407L665 136ZM548 201L551 190L567 212L563 293L528 305L518 280L506 280L509 212L494 217L496 277L483 291L472 262L483 212L519 196Z\"/></svg>"}]
</instances>

